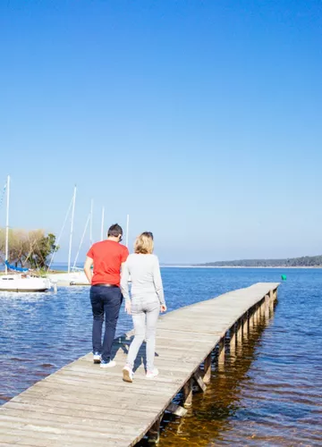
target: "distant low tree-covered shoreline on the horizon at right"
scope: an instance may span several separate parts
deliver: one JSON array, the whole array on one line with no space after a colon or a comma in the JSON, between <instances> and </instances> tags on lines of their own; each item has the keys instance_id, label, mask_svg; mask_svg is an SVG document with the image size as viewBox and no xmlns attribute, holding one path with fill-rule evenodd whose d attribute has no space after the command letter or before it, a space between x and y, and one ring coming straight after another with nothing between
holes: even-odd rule
<instances>
[{"instance_id":1,"label":"distant low tree-covered shoreline on the horizon at right","mask_svg":"<svg viewBox=\"0 0 322 447\"><path fill-rule=\"evenodd\" d=\"M216 261L199 266L213 267L319 267L322 256L288 257L285 259L241 259L235 261Z\"/></svg>"}]
</instances>

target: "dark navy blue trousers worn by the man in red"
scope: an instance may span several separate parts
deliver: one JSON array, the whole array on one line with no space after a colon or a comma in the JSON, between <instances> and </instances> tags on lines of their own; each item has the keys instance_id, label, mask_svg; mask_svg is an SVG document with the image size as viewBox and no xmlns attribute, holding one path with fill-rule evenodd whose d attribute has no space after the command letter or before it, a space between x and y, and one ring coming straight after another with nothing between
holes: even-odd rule
<instances>
[{"instance_id":1,"label":"dark navy blue trousers worn by the man in red","mask_svg":"<svg viewBox=\"0 0 322 447\"><path fill-rule=\"evenodd\" d=\"M92 285L89 297L93 311L93 352L98 352L103 360L108 361L111 358L117 319L123 300L122 292L119 287ZM104 316L106 327L102 346Z\"/></svg>"}]
</instances>

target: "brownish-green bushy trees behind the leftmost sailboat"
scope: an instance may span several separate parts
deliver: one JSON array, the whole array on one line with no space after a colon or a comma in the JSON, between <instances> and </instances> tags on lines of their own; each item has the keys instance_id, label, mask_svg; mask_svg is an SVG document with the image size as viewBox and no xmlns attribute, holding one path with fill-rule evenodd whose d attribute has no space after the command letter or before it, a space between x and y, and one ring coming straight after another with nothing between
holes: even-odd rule
<instances>
[{"instance_id":1,"label":"brownish-green bushy trees behind the leftmost sailboat","mask_svg":"<svg viewBox=\"0 0 322 447\"><path fill-rule=\"evenodd\" d=\"M9 230L8 261L16 267L46 268L49 257L59 247L55 245L55 234L43 230ZM0 261L5 261L5 229L0 228Z\"/></svg>"}]
</instances>

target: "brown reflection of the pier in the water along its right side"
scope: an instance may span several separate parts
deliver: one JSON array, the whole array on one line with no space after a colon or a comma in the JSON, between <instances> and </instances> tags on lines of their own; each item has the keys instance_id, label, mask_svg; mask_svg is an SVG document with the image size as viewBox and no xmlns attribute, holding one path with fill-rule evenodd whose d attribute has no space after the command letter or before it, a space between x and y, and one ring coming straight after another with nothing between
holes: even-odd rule
<instances>
[{"instance_id":1,"label":"brown reflection of the pier in the water along its right side","mask_svg":"<svg viewBox=\"0 0 322 447\"><path fill-rule=\"evenodd\" d=\"M229 353L229 340L226 341L228 355L225 367L217 366L217 352L213 353L211 382L207 391L193 394L193 405L186 417L165 415L160 446L215 445L211 443L212 439L216 440L216 445L220 443L222 434L231 429L231 419L243 409L242 388L250 384L249 370L258 356L261 335L267 325L269 320L265 321L262 316L259 324L251 327L247 337L237 344L233 355ZM176 403L182 403L181 395L178 395ZM147 445L148 440L144 439L138 447Z\"/></svg>"}]
</instances>

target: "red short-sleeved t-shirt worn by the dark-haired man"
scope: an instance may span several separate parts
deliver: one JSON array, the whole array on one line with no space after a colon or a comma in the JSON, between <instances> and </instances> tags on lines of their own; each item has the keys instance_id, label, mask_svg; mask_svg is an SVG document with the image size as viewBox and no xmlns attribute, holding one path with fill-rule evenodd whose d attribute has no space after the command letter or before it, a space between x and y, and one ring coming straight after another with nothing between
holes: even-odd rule
<instances>
[{"instance_id":1,"label":"red short-sleeved t-shirt worn by the dark-haired man","mask_svg":"<svg viewBox=\"0 0 322 447\"><path fill-rule=\"evenodd\" d=\"M129 256L129 250L114 240L102 240L92 245L88 257L93 259L94 274L92 285L120 285L121 264Z\"/></svg>"}]
</instances>

